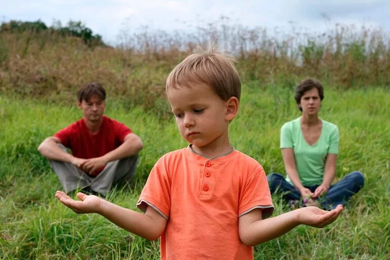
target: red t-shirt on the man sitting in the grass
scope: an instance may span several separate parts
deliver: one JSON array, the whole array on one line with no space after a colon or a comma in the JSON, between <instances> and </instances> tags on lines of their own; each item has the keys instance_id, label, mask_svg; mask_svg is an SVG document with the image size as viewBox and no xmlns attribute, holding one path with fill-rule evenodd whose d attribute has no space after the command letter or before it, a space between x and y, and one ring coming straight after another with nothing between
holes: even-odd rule
<instances>
[{"instance_id":1,"label":"red t-shirt on the man sitting in the grass","mask_svg":"<svg viewBox=\"0 0 390 260\"><path fill-rule=\"evenodd\" d=\"M132 133L126 125L103 116L103 122L97 133L92 134L84 118L60 130L55 137L70 148L77 158L90 159L103 156L123 143L126 135Z\"/></svg>"}]
</instances>

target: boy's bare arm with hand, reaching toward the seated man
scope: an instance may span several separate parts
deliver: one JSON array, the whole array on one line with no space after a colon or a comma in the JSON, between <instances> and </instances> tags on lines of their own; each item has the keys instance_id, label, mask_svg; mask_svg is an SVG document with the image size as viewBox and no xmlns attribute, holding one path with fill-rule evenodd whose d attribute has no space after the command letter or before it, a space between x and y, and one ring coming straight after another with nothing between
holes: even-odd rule
<instances>
[{"instance_id":1,"label":"boy's bare arm with hand, reaching toward the seated man","mask_svg":"<svg viewBox=\"0 0 390 260\"><path fill-rule=\"evenodd\" d=\"M77 193L77 198L80 201L76 201L64 192L57 191L56 197L76 213L98 213L115 225L149 240L157 240L167 225L167 219L149 206L143 214L115 205L94 195Z\"/></svg>"}]
</instances>

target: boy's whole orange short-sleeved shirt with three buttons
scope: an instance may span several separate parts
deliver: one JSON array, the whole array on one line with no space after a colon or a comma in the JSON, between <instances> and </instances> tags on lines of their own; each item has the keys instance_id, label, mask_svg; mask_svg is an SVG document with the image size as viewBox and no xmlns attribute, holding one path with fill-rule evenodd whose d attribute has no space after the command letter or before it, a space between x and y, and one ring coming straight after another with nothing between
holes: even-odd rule
<instances>
[{"instance_id":1,"label":"boy's whole orange short-sleeved shirt with three buttons","mask_svg":"<svg viewBox=\"0 0 390 260\"><path fill-rule=\"evenodd\" d=\"M189 147L154 165L137 206L147 205L168 219L161 236L161 259L253 259L239 237L239 217L272 205L261 165L233 150L207 159Z\"/></svg>"}]
</instances>

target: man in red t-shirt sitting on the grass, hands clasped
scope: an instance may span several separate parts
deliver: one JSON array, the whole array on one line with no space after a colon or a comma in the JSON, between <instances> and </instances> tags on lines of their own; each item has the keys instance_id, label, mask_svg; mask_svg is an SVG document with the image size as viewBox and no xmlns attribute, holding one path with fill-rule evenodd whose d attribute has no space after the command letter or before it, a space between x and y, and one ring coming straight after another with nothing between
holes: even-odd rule
<instances>
[{"instance_id":1,"label":"man in red t-shirt sitting on the grass, hands clasped","mask_svg":"<svg viewBox=\"0 0 390 260\"><path fill-rule=\"evenodd\" d=\"M89 83L77 93L84 117L54 136L38 151L57 173L66 193L82 189L104 196L116 182L131 181L141 139L129 127L103 116L106 93L98 83ZM67 153L66 147L72 154Z\"/></svg>"}]
</instances>

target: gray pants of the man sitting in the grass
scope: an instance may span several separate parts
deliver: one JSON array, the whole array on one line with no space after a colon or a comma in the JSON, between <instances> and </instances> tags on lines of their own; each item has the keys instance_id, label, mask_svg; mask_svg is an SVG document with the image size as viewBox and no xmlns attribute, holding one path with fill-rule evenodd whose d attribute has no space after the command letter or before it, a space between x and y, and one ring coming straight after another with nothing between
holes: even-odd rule
<instances>
[{"instance_id":1,"label":"gray pants of the man sitting in the grass","mask_svg":"<svg viewBox=\"0 0 390 260\"><path fill-rule=\"evenodd\" d=\"M66 147L59 144L62 150ZM92 191L105 195L114 183L131 182L137 164L138 155L109 162L96 176L91 177L71 163L49 160L53 171L58 175L66 193L89 187Z\"/></svg>"}]
</instances>

